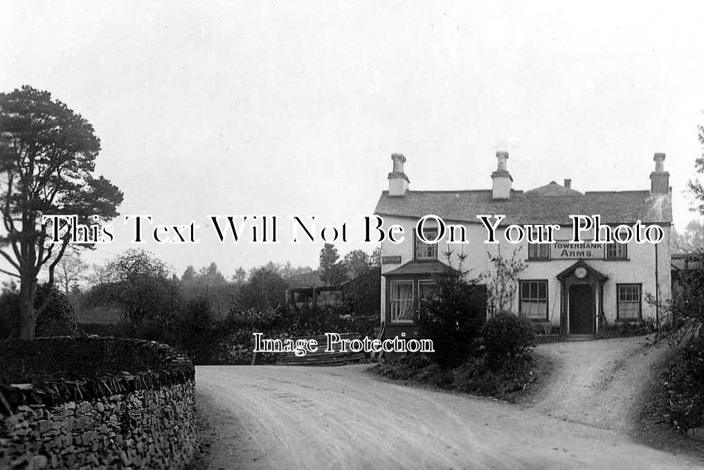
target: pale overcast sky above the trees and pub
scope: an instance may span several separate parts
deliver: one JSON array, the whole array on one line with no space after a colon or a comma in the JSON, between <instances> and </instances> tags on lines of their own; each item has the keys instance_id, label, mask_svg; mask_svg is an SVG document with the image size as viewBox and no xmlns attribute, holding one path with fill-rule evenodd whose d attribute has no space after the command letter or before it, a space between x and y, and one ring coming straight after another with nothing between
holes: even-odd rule
<instances>
[{"instance_id":1,"label":"pale overcast sky above the trees and pub","mask_svg":"<svg viewBox=\"0 0 704 470\"><path fill-rule=\"evenodd\" d=\"M5 0L0 15L0 90L49 90L92 122L123 215L201 225L198 245L142 246L178 274L317 266L322 241L287 243L285 219L348 220L360 241L393 152L411 189L488 189L506 150L515 189L598 191L649 189L662 151L674 224L693 217L694 2L204 3ZM213 214L279 215L283 243L221 245ZM86 258L130 248L115 225Z\"/></svg>"}]
</instances>

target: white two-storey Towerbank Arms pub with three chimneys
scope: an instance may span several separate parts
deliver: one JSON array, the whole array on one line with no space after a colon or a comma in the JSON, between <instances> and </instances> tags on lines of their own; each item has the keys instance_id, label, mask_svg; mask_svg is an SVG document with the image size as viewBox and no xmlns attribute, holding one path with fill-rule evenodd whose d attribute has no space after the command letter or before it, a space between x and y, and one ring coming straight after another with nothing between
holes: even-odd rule
<instances>
[{"instance_id":1,"label":"white two-storey Towerbank Arms pub with three chimneys","mask_svg":"<svg viewBox=\"0 0 704 470\"><path fill-rule=\"evenodd\" d=\"M390 227L403 227L402 243L382 242L381 322L384 337L417 334L422 299L436 295L436 275L446 272L444 253L466 255L463 269L479 277L493 268L489 254L501 250L510 258L513 250L525 269L517 274L517 288L510 311L536 323L539 331L562 336L593 336L599 329L619 322L658 322L660 308L646 301L650 294L670 298L670 225L672 197L670 174L664 169L665 154L655 153L650 189L643 191L585 191L549 182L529 191L513 189L508 171L508 153L496 152L497 167L491 173L491 188L466 191L411 191L404 172L406 157L394 153L389 189L383 191L375 214ZM635 175L634 175L635 176ZM646 174L643 174L643 182ZM467 243L424 243L415 234L420 219L439 217L445 224L465 229ZM505 215L496 229L498 243L484 243L487 229L477 215ZM660 243L590 243L592 229L582 233L584 243L572 240L570 215L601 215L610 227L640 221L643 226L662 227ZM554 243L513 244L505 238L512 224L559 224ZM438 238L435 219L423 224L426 239ZM591 237L591 238L590 238ZM455 258L453 256L453 258ZM455 258L456 259L456 258Z\"/></svg>"}]
</instances>

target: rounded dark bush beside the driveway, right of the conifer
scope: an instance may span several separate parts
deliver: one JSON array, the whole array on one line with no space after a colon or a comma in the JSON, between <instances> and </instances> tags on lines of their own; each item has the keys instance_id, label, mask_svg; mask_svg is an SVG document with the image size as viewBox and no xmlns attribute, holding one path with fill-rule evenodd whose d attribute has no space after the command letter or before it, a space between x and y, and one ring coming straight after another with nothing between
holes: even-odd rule
<instances>
[{"instance_id":1,"label":"rounded dark bush beside the driveway, right of the conifer","mask_svg":"<svg viewBox=\"0 0 704 470\"><path fill-rule=\"evenodd\" d=\"M526 317L500 312L491 317L482 331L483 345L489 366L504 364L527 355L535 347L536 336Z\"/></svg>"}]
</instances>

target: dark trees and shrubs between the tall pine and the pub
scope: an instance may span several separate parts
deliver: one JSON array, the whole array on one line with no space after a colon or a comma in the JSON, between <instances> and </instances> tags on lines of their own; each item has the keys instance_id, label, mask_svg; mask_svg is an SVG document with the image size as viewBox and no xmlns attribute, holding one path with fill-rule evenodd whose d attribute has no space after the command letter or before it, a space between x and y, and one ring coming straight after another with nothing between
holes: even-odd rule
<instances>
[{"instance_id":1,"label":"dark trees and shrubs between the tall pine and the pub","mask_svg":"<svg viewBox=\"0 0 704 470\"><path fill-rule=\"evenodd\" d=\"M227 279L215 262L187 267L179 277L144 250L127 250L88 267L78 253L65 256L56 283L40 286L37 336L117 336L168 343L196 364L250 364L253 333L265 337L313 336L327 331L374 336L379 323L379 253L354 250L344 258L332 245L318 269L269 262ZM332 273L332 274L331 274ZM344 284L333 299L289 302L289 288ZM371 287L373 286L373 288ZM0 293L0 339L20 334L20 291ZM258 360L267 360L260 357Z\"/></svg>"}]
</instances>

